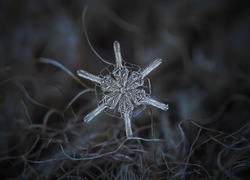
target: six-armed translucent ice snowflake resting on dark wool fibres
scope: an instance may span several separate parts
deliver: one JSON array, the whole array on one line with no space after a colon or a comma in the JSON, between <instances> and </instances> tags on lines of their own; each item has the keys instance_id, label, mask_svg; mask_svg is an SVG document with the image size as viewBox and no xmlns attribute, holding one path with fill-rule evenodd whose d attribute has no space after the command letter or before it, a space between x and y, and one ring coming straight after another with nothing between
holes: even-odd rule
<instances>
[{"instance_id":1,"label":"six-armed translucent ice snowflake resting on dark wool fibres","mask_svg":"<svg viewBox=\"0 0 250 180\"><path fill-rule=\"evenodd\" d=\"M145 69L133 71L123 64L120 45L117 41L114 42L114 52L116 65L114 65L114 69L110 74L95 76L84 70L77 71L79 76L97 83L102 91L102 99L99 102L99 106L91 111L84 118L84 121L91 121L103 111L116 110L125 121L127 138L132 138L131 117L136 108L151 105L164 111L168 110L168 105L150 98L150 94L146 93L144 85L146 76L158 67L162 60L156 59Z\"/></svg>"}]
</instances>

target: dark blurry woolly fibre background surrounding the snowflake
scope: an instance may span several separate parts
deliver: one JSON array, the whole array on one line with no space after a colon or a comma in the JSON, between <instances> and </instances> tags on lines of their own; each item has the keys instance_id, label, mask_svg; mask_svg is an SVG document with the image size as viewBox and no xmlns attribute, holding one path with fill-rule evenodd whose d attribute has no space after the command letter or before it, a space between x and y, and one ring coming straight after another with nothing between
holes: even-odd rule
<instances>
[{"instance_id":1,"label":"dark blurry woolly fibre background surrounding the snowflake","mask_svg":"<svg viewBox=\"0 0 250 180\"><path fill-rule=\"evenodd\" d=\"M74 75L107 67L86 40L86 6L103 59L115 62L117 40L126 62L163 60L149 75L151 96L170 110L133 118L144 139L126 140L123 121L105 113L82 122L98 105L94 84L62 67ZM250 178L247 0L1 0L0 23L1 177Z\"/></svg>"}]
</instances>

